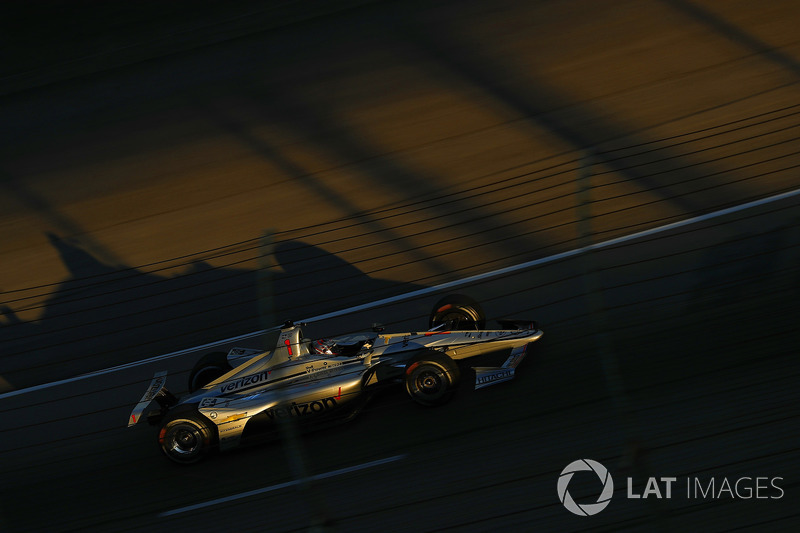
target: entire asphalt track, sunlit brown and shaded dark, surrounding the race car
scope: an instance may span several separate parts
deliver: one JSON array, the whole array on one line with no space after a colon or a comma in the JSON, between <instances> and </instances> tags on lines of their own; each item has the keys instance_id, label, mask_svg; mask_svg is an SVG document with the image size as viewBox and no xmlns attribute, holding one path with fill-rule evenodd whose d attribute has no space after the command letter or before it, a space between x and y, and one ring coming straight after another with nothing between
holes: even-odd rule
<instances>
[{"instance_id":1,"label":"entire asphalt track, sunlit brown and shaded dark, surrounding the race car","mask_svg":"<svg viewBox=\"0 0 800 533\"><path fill-rule=\"evenodd\" d=\"M268 30L238 13L180 33L195 41L172 55L120 46L15 73L2 107L7 388L258 329L259 251L232 249L233 265L198 251L270 227L285 288L273 311L304 317L585 244L587 151L591 242L800 186L794 3L493 6L351 4ZM632 149L643 143L659 150ZM548 177L514 185L525 174ZM387 392L303 438L306 488L280 444L178 468L152 428L125 427L155 371L180 392L199 354L4 396L0 528L796 531L798 203L459 288L492 319L540 321L519 375L482 391L465 380L439 409ZM193 269L174 259L187 255ZM422 329L437 296L312 334ZM581 458L615 481L593 517L556 492ZM681 490L629 499L628 476L639 494L649 476ZM687 478L782 491L687 498ZM590 503L599 485L576 475L570 491Z\"/></svg>"}]
</instances>

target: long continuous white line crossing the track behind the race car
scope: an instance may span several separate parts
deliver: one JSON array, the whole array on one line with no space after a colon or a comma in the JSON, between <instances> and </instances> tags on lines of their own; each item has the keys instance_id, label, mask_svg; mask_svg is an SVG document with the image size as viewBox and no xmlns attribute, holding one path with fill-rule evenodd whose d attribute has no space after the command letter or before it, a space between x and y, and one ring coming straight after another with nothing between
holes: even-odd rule
<instances>
[{"instance_id":1,"label":"long continuous white line crossing the track behind the race car","mask_svg":"<svg viewBox=\"0 0 800 533\"><path fill-rule=\"evenodd\" d=\"M648 237L650 235L656 235L658 233L664 233L666 231L670 231L670 230L673 230L673 229L676 229L676 228L682 228L684 226L690 226L692 224L698 224L700 222L705 222L707 220L712 220L714 218L719 218L719 217L722 217L722 216L725 216L725 215L730 215L731 213L737 213L739 211L745 211L747 209L752 209L754 207L759 207L759 206L766 205L766 204L769 204L769 203L772 203L772 202L785 200L787 198L792 198L792 197L798 196L798 195L800 195L800 189L795 189L795 190L784 192L784 193L781 193L781 194L776 194L774 196L768 196L766 198L762 198L761 200L754 200L752 202L747 202L747 203L744 203L744 204L736 205L736 206L733 206L733 207L729 207L727 209L721 209L719 211L713 211L711 213L706 213L705 215L700 215L700 216L697 216L697 217L687 218L686 220L673 222L671 224L666 224L664 226L658 226L656 228L651 228L651 229L648 229L648 230L639 231L639 232L636 232L636 233L631 233L630 235L624 235L622 237L617 237L615 239L610 239L610 240L607 240L607 241L599 242L597 244L592 244L592 245L589 245L589 246L584 246L582 248L576 248L574 250L569 250L569 251L562 252L562 253L559 253L559 254L550 255L550 256L547 256L547 257L542 257L541 259L534 259L533 261L527 261L525 263L520 263L518 265L513 265L513 266L510 266L510 267L506 267L506 268L501 268L499 270L493 270L491 272L485 272L483 274L477 274L475 276L470 276L468 278L463 278L463 279L459 279L459 280L455 280L455 281L450 281L450 282L447 282L447 283L442 283L441 285L435 285L433 287L428 287L426 289L419 289L419 290L416 290L416 291L407 292L405 294L400 294L398 296L392 296L391 298L384 298L382 300L376 300L374 302L361 304L361 305L356 305L354 307L348 307L347 309L342 309L341 311L334 311L332 313L325 313L323 315L318 315L318 316L315 316L315 317L307 318L305 320L299 320L298 322L319 322L321 320L327 320L329 318L349 315L349 314L352 314L352 313L357 313L359 311L365 311L367 309L372 309L372 308L375 308L375 307L382 307L382 306L385 306L385 305L390 305L390 304L393 304L393 303L401 302L403 300L408 300L408 299L417 298L417 297L420 297L420 296L425 296L425 295L433 293L433 292L438 292L438 291L445 290L445 289L451 289L451 288L458 287L458 286L461 286L461 285L468 285L470 283L476 283L476 282L483 281L483 280L486 280L486 279L491 279L491 278L494 278L494 277L497 277L497 276L503 276L503 275L506 275L506 274L512 274L514 272L518 272L518 271L521 271L521 270L526 270L526 269L529 269L529 268L532 268L532 267L535 267L535 266L544 265L546 263L552 263L553 261L559 261L561 259L566 259L568 257L572 257L572 256L575 256L575 255L580 255L582 253L585 253L585 252L588 252L588 251L591 251L591 250L600 250L602 248L608 248L610 246L614 246L614 245L621 244L621 243L624 243L624 242L632 241L632 240L635 240L635 239L640 239L642 237ZM26 389L20 389L20 390L16 390L16 391L6 392L4 394L0 394L0 400L5 399L5 398L10 398L12 396L17 396L19 394L25 394L27 392L34 392L34 391L37 391L37 390L47 389L47 388L55 387L55 386L58 386L58 385L64 385L66 383L72 383L74 381L79 381L79 380L83 380L83 379L87 379L87 378L91 378L91 377L95 377L95 376L101 376L103 374L110 374L112 372L117 372L119 370L125 370L125 369L128 369L128 368L133 368L133 367L141 366L141 365L147 365L147 364L155 363L155 362L158 362L158 361L165 361L167 359L180 357L180 356L186 355L188 353L193 353L193 352L196 352L196 351L199 351L199 350L207 350L209 348L215 348L217 346L221 346L221 345L224 345L224 344L230 344L232 342L238 342L238 341L241 341L241 340L252 339L253 337L258 337L259 335L265 334L267 331L269 331L269 330L263 330L262 329L262 330L259 330L259 331L254 331L252 333L245 333L243 335L238 335L236 337L230 337L228 339L223 339L221 341L211 342L211 343L208 343L208 344L203 344L201 346L195 346L193 348L186 348L184 350L179 350L177 352L170 352L170 353L167 353L167 354L164 354L164 355L157 355L155 357L151 357L149 359L143 359L141 361L135 361L133 363L128 363L128 364L124 364L124 365L120 365L120 366L106 368L104 370L98 370L96 372L91 372L89 374L83 374L83 375L80 375L80 376L76 376L74 378L62 379L62 380L59 380L59 381L53 381L51 383L44 383L42 385L36 385L34 387L28 387Z\"/></svg>"}]
</instances>

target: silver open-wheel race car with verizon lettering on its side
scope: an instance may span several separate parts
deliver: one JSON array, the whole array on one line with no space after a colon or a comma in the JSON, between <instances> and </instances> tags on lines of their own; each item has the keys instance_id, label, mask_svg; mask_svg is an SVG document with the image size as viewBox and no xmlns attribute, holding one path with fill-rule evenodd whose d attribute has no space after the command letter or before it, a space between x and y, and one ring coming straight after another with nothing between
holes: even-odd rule
<instances>
[{"instance_id":1,"label":"silver open-wheel race car with verizon lettering on its side","mask_svg":"<svg viewBox=\"0 0 800 533\"><path fill-rule=\"evenodd\" d=\"M402 384L412 400L430 407L447 402L461 379L457 361L510 350L498 367L473 367L475 388L511 380L528 344L543 332L533 321L500 320L485 329L481 306L464 295L439 300L426 331L367 333L311 340L307 324L286 322L268 351L234 348L203 356L189 375L188 393L154 376L128 426L158 426L158 446L172 461L191 464L226 451L293 420L302 426L355 416L374 392Z\"/></svg>"}]
</instances>

